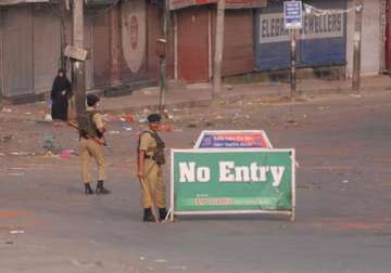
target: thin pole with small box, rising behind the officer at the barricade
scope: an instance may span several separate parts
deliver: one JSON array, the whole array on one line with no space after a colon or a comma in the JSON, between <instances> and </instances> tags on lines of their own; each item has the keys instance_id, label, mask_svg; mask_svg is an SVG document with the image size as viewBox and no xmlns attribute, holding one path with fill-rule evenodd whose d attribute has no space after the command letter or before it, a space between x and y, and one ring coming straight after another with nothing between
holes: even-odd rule
<instances>
[{"instance_id":1,"label":"thin pole with small box, rising behind the officer at the barricade","mask_svg":"<svg viewBox=\"0 0 391 273\"><path fill-rule=\"evenodd\" d=\"M165 94L167 92L167 54L168 54L168 25L169 25L169 0L164 1L163 6L163 38L157 40L157 54L160 56L160 96L159 96L159 112L164 110Z\"/></svg>"}]
</instances>

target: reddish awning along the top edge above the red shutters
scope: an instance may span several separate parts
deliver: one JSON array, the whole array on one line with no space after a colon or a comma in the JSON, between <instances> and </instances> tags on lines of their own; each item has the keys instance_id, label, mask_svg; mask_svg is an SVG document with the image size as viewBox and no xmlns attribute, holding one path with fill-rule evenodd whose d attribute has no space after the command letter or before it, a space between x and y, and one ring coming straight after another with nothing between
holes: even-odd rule
<instances>
[{"instance_id":1,"label":"reddish awning along the top edge above the red shutters","mask_svg":"<svg viewBox=\"0 0 391 273\"><path fill-rule=\"evenodd\" d=\"M190 5L217 3L217 0L169 0L169 9L178 10ZM226 9L264 8L267 0L226 0Z\"/></svg>"}]
</instances>

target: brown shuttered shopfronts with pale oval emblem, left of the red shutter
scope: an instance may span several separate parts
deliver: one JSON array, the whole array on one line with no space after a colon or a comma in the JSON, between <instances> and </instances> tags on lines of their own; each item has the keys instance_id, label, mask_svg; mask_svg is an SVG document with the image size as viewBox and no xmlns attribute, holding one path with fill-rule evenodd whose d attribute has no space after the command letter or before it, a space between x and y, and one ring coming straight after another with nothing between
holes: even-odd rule
<instances>
[{"instance_id":1,"label":"brown shuttered shopfronts with pale oval emblem, left of the red shutter","mask_svg":"<svg viewBox=\"0 0 391 273\"><path fill-rule=\"evenodd\" d=\"M85 8L88 89L157 80L160 8L146 0L115 3L88 1ZM1 5L0 94L11 98L50 91L63 60L61 52L72 44L72 11L59 3ZM66 64L71 77L70 61Z\"/></svg>"}]
</instances>

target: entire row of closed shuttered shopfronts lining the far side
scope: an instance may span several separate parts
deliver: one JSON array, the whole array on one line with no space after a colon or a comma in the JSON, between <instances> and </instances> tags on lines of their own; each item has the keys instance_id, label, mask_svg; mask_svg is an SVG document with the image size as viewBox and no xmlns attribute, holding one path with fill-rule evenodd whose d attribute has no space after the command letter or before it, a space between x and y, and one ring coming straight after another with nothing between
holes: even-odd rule
<instances>
[{"instance_id":1,"label":"entire row of closed shuttered shopfronts lining the far side","mask_svg":"<svg viewBox=\"0 0 391 273\"><path fill-rule=\"evenodd\" d=\"M353 64L355 0L306 0L330 13L306 14L298 35L299 67ZM72 11L63 1L0 2L0 94L40 94L51 89L72 43ZM162 35L162 1L88 0L85 48L88 89L159 79L156 40ZM289 32L283 28L282 0L227 0L223 76L287 70ZM216 0L172 0L168 76L187 82L213 77ZM362 74L391 69L391 0L364 0ZM350 11L350 12L341 12ZM70 68L70 62L67 61ZM70 72L70 69L68 69ZM71 73L68 73L71 74Z\"/></svg>"}]
</instances>

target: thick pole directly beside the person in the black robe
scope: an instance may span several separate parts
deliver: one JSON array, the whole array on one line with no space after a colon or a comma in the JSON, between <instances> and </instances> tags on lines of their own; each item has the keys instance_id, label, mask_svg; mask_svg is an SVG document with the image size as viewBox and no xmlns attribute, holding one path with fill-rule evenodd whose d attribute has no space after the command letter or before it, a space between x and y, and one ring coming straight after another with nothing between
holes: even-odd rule
<instances>
[{"instance_id":1,"label":"thick pole directly beside the person in the black robe","mask_svg":"<svg viewBox=\"0 0 391 273\"><path fill-rule=\"evenodd\" d=\"M73 46L84 48L84 0L73 1ZM86 108L86 67L83 61L73 61L72 83L79 115Z\"/></svg>"}]
</instances>

